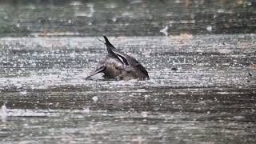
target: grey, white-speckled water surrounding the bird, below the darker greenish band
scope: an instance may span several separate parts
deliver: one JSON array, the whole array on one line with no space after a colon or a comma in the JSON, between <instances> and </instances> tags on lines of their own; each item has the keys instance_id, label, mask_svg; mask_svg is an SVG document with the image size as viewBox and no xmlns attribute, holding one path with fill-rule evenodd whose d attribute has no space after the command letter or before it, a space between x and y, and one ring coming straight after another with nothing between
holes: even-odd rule
<instances>
[{"instance_id":1,"label":"grey, white-speckled water surrounding the bird, below the darker greenish band","mask_svg":"<svg viewBox=\"0 0 256 144\"><path fill-rule=\"evenodd\" d=\"M255 38L110 37L147 81L85 80L96 38L1 38L1 142L254 143Z\"/></svg>"}]
</instances>

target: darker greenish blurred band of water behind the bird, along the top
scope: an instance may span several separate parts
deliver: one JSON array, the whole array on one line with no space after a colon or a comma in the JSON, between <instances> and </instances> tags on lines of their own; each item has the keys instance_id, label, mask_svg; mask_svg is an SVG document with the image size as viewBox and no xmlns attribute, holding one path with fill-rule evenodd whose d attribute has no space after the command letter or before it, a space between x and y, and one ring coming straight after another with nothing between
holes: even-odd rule
<instances>
[{"instance_id":1,"label":"darker greenish blurred band of water behind the bird, along the top","mask_svg":"<svg viewBox=\"0 0 256 144\"><path fill-rule=\"evenodd\" d=\"M256 33L255 0L0 0L0 36Z\"/></svg>"}]
</instances>

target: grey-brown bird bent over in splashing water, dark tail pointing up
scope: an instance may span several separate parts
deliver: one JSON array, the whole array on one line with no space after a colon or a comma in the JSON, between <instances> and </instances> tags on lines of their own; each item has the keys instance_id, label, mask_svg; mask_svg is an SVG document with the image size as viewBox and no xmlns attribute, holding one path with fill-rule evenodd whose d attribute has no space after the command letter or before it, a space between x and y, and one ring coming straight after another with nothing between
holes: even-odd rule
<instances>
[{"instance_id":1,"label":"grey-brown bird bent over in splashing water, dark tail pointing up","mask_svg":"<svg viewBox=\"0 0 256 144\"><path fill-rule=\"evenodd\" d=\"M116 49L106 36L103 36L103 38L105 39L105 42L100 39L98 40L106 45L108 54L102 62L98 63L96 69L91 72L86 79L98 73L103 73L103 77L106 79L116 80L145 80L150 78L145 67L142 66L142 64L140 64L135 58Z\"/></svg>"}]
</instances>

